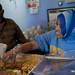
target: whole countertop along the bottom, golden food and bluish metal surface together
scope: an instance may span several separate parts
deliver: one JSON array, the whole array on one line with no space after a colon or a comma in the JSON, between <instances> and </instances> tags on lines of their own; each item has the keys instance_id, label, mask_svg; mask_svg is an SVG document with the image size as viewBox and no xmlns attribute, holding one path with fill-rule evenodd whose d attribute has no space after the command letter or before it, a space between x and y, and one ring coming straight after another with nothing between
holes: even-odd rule
<instances>
[{"instance_id":1,"label":"whole countertop along the bottom, golden food and bluish metal surface together","mask_svg":"<svg viewBox=\"0 0 75 75\"><path fill-rule=\"evenodd\" d=\"M37 54L18 54L11 61L0 61L0 75L75 75L75 61L48 60Z\"/></svg>"}]
</instances>

